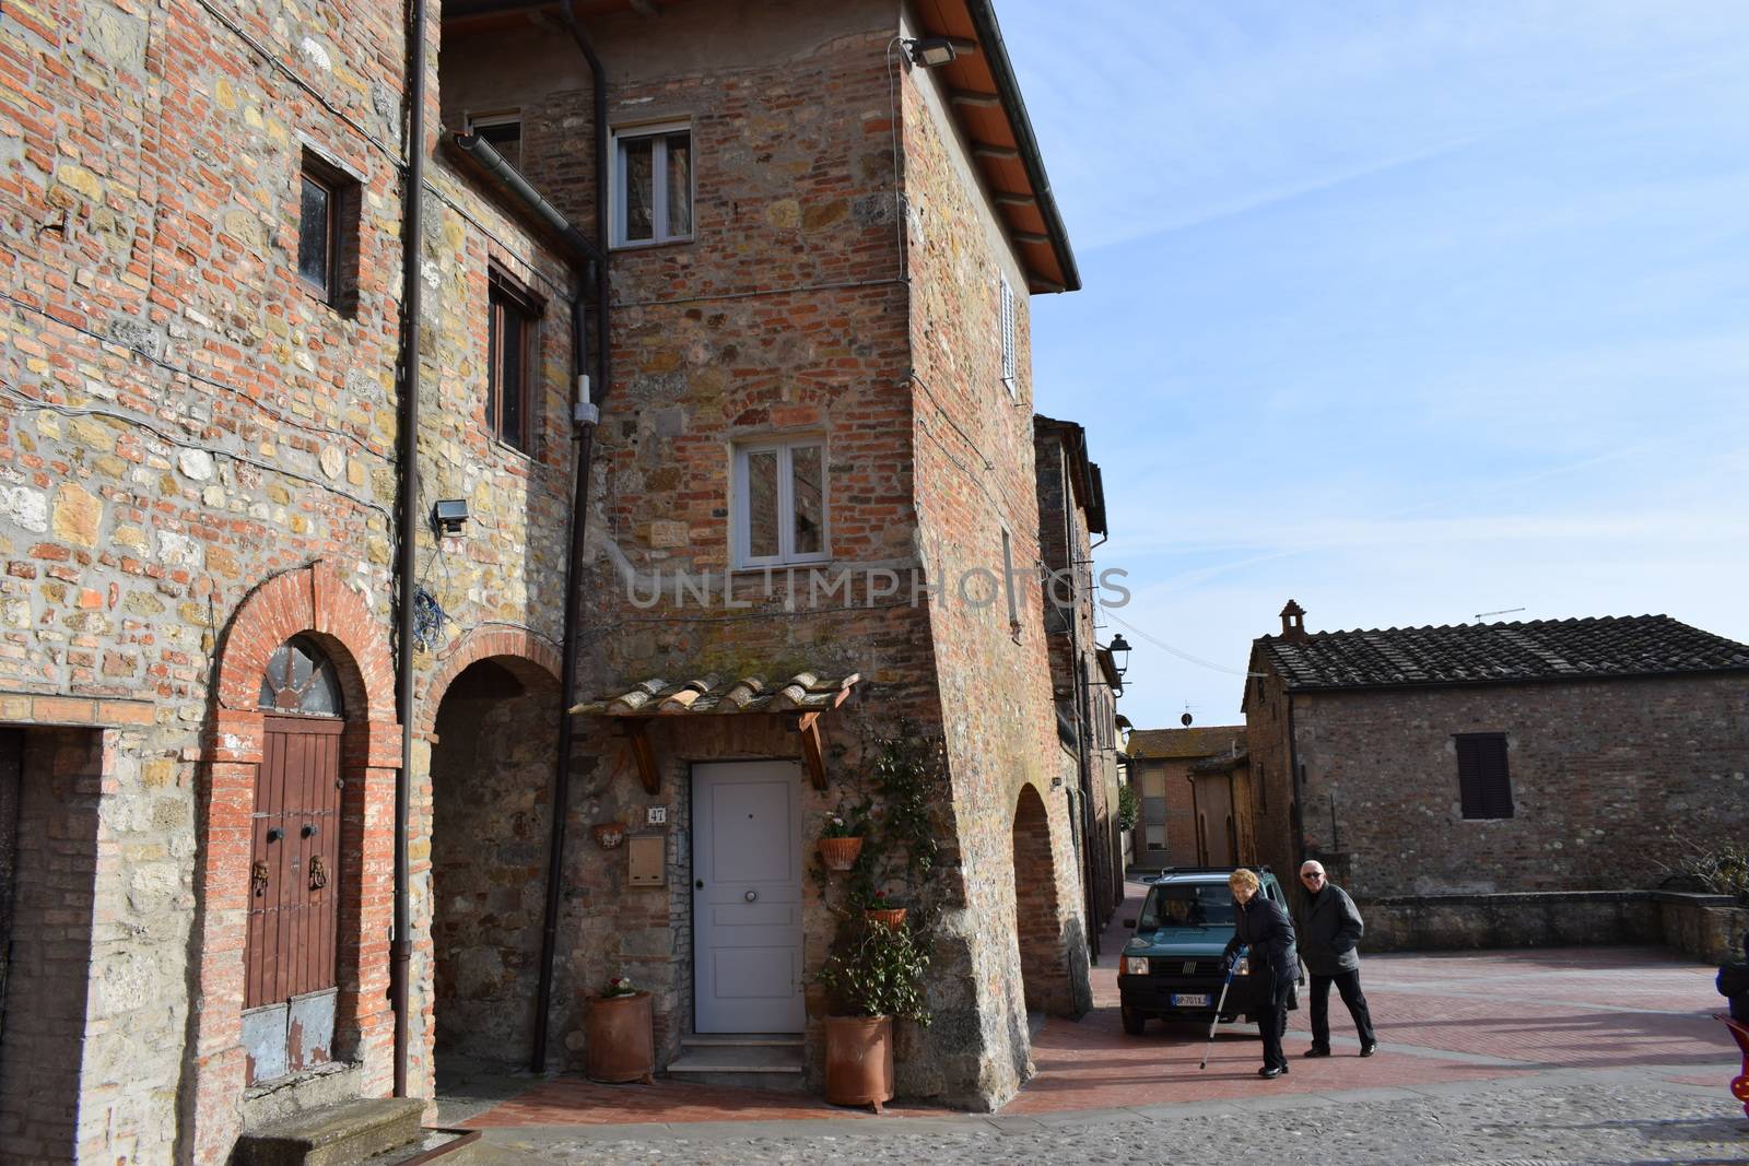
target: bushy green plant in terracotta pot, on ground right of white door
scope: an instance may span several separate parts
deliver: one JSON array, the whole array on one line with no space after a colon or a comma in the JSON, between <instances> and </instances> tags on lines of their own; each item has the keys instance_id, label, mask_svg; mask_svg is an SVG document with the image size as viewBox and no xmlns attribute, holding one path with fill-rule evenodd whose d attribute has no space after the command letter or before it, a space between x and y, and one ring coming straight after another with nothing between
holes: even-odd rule
<instances>
[{"instance_id":1,"label":"bushy green plant in terracotta pot, on ground right of white door","mask_svg":"<svg viewBox=\"0 0 1749 1166\"><path fill-rule=\"evenodd\" d=\"M929 1024L922 979L929 954L909 928L864 921L840 937L817 981L833 998L826 1017L826 1100L871 1105L892 1100L892 1023Z\"/></svg>"}]
</instances>

